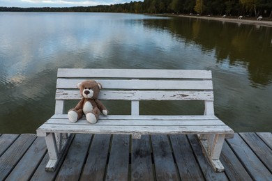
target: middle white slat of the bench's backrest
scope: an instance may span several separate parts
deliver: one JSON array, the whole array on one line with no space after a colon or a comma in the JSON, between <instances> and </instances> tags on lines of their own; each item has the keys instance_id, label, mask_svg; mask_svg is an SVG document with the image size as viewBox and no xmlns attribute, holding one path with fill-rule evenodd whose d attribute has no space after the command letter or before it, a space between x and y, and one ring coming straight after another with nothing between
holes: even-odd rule
<instances>
[{"instance_id":1,"label":"middle white slat of the bench's backrest","mask_svg":"<svg viewBox=\"0 0 272 181\"><path fill-rule=\"evenodd\" d=\"M90 78L91 79L91 78ZM77 88L86 79L58 79L56 88ZM183 89L212 90L211 80L114 80L98 79L104 89Z\"/></svg>"}]
</instances>

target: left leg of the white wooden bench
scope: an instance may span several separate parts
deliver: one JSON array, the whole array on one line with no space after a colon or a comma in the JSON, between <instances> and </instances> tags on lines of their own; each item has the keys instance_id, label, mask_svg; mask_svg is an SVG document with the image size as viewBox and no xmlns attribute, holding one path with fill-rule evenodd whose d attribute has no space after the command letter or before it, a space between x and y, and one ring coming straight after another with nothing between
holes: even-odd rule
<instances>
[{"instance_id":1,"label":"left leg of the white wooden bench","mask_svg":"<svg viewBox=\"0 0 272 181\"><path fill-rule=\"evenodd\" d=\"M70 135L68 138L66 135L67 134L49 133L45 136L45 143L47 145L47 151L50 158L45 166L45 171L54 172L60 159L67 152L68 146L73 139L73 135Z\"/></svg>"}]
</instances>

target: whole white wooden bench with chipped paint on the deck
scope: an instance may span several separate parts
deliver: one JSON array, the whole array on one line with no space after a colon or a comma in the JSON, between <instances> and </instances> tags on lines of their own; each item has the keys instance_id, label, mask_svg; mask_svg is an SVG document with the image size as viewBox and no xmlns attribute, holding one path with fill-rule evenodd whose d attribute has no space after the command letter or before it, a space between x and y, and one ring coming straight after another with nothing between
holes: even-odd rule
<instances>
[{"instance_id":1,"label":"whole white wooden bench with chipped paint on the deck","mask_svg":"<svg viewBox=\"0 0 272 181\"><path fill-rule=\"evenodd\" d=\"M219 157L225 137L234 131L214 116L211 71L206 70L125 70L125 69L59 69L56 82L55 114L37 129L45 136L50 161L47 171L54 171L67 150L73 134L197 134L206 158L220 172L224 167ZM77 83L95 79L103 85L100 100L131 101L130 115L100 116L91 125L84 118L70 123L63 111L66 100L80 100ZM144 116L139 115L139 101L202 100L204 115ZM182 108L181 108L182 109Z\"/></svg>"}]
</instances>

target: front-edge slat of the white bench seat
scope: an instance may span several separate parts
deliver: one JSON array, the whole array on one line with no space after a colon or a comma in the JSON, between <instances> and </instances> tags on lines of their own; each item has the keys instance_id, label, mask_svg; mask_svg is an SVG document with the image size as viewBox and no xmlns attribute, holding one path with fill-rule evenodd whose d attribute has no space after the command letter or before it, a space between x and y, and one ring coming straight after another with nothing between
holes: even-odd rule
<instances>
[{"instance_id":1,"label":"front-edge slat of the white bench seat","mask_svg":"<svg viewBox=\"0 0 272 181\"><path fill-rule=\"evenodd\" d=\"M86 127L86 125L49 125L44 124L38 128L37 134L42 136L47 132L77 133L77 134L234 134L227 125L202 126L105 126Z\"/></svg>"}]
</instances>

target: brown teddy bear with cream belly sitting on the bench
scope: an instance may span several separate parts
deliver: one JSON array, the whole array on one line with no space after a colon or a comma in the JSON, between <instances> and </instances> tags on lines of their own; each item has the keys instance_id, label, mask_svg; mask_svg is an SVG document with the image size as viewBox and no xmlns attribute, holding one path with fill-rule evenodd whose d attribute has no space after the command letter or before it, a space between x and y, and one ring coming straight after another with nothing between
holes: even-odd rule
<instances>
[{"instance_id":1,"label":"brown teddy bear with cream belly sitting on the bench","mask_svg":"<svg viewBox=\"0 0 272 181\"><path fill-rule=\"evenodd\" d=\"M68 111L70 122L75 123L85 115L86 120L94 124L98 121L100 112L107 116L106 107L98 100L98 94L102 88L101 84L94 80L86 80L77 84L77 88L80 89L82 100L78 102L74 109Z\"/></svg>"}]
</instances>

